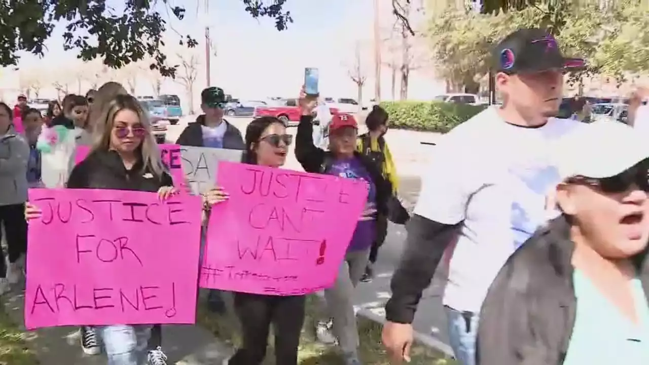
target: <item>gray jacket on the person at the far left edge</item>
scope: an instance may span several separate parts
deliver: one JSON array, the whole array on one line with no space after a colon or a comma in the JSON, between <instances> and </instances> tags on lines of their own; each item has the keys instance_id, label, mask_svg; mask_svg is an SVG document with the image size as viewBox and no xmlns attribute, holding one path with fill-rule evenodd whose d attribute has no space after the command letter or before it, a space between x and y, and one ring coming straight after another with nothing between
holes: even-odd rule
<instances>
[{"instance_id":1,"label":"gray jacket on the person at the far left edge","mask_svg":"<svg viewBox=\"0 0 649 365\"><path fill-rule=\"evenodd\" d=\"M0 205L27 201L29 144L13 127L0 136Z\"/></svg>"}]
</instances>

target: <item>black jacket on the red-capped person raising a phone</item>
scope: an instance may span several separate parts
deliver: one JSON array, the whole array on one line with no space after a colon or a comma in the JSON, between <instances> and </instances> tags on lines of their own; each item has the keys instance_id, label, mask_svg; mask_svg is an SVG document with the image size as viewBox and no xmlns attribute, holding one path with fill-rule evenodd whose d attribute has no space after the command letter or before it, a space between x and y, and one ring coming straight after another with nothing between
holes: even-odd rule
<instances>
[{"instance_id":1,"label":"black jacket on the red-capped person raising a phone","mask_svg":"<svg viewBox=\"0 0 649 365\"><path fill-rule=\"evenodd\" d=\"M354 151L354 155L361 161L376 187L376 210L378 214L387 216L387 200L392 196L390 182L383 177L372 160L357 151ZM323 173L326 170L328 161L334 160L330 152L324 151L324 149L320 149L313 144L312 116L300 117L300 123L297 125L297 136L295 137L295 157L304 171L312 173Z\"/></svg>"}]
</instances>

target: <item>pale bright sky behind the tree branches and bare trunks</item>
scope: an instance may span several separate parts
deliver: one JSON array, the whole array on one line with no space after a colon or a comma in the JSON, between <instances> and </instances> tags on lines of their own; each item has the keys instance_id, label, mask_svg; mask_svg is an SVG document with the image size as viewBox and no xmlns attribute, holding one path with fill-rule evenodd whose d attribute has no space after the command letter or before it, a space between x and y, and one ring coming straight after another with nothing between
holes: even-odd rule
<instances>
[{"instance_id":1,"label":"pale bright sky behind the tree branches and bare trunks","mask_svg":"<svg viewBox=\"0 0 649 365\"><path fill-rule=\"evenodd\" d=\"M382 1L382 18L387 24L393 21L390 1ZM119 1L112 1L119 8ZM204 73L204 29L210 27L214 45L210 58L212 86L221 86L227 94L241 99L262 97L292 97L304 80L304 68L319 68L321 94L332 97L356 97L357 87L349 77L349 69L355 64L354 50L361 48L361 66L367 73L365 97L369 100L374 90L373 81L373 0L288 0L285 9L291 12L293 23L288 30L277 31L272 19L253 19L245 12L241 0L170 0L173 6L184 6L186 16L182 21L173 17L158 1L158 10L169 21L165 38L167 45L177 44L180 35L191 34L199 41L196 49L178 46L168 52L173 63L175 53L192 52L199 57L199 78L195 97L206 86ZM123 2L121 2L123 4ZM169 16L171 14L171 16ZM38 68L41 65L56 67L69 65L75 53L62 50L63 27L57 27L46 43L49 50L39 59L23 54L21 68ZM384 97L389 94L388 69L383 71ZM423 89L423 94L437 94L439 82L428 77L425 80L411 77L411 89ZM429 80L430 79L430 80ZM423 82L422 82L423 81ZM432 84L431 84L432 82ZM434 86L429 86L434 85ZM430 89L434 88L434 92ZM163 93L186 94L177 82L167 81ZM421 90L420 90L421 91ZM151 93L149 82L138 82L138 94ZM411 94L413 94L411 92ZM414 94L422 94L415 92Z\"/></svg>"}]
</instances>

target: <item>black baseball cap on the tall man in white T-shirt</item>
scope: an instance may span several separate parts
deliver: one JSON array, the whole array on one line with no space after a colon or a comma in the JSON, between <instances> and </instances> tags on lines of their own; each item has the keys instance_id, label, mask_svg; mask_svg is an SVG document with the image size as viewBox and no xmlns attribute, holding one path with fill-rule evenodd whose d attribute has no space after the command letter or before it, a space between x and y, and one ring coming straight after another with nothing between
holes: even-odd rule
<instances>
[{"instance_id":1,"label":"black baseball cap on the tall man in white T-shirt","mask_svg":"<svg viewBox=\"0 0 649 365\"><path fill-rule=\"evenodd\" d=\"M583 69L582 58L564 57L556 39L545 29L519 29L506 36L493 49L493 68L496 72L513 75L533 73L546 69Z\"/></svg>"}]
</instances>

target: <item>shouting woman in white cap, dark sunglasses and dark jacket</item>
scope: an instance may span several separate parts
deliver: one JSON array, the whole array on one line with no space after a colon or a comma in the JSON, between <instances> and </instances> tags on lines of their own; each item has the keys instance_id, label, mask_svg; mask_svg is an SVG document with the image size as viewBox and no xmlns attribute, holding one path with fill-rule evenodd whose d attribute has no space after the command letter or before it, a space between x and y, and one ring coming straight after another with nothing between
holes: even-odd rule
<instances>
[{"instance_id":1,"label":"shouting woman in white cap, dark sunglasses and dark jacket","mask_svg":"<svg viewBox=\"0 0 649 365\"><path fill-rule=\"evenodd\" d=\"M558 212L489 287L476 364L648 364L646 138L595 121L556 152Z\"/></svg>"}]
</instances>

